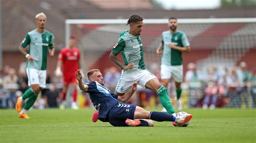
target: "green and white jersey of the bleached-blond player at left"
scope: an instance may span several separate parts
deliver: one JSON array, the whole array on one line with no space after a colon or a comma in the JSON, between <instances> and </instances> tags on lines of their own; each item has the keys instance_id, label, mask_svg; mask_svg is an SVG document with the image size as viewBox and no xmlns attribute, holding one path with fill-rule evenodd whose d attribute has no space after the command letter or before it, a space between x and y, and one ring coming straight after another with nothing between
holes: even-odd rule
<instances>
[{"instance_id":1,"label":"green and white jersey of the bleached-blond player at left","mask_svg":"<svg viewBox=\"0 0 256 143\"><path fill-rule=\"evenodd\" d=\"M26 61L26 68L34 68L38 70L46 70L48 48L54 47L54 35L49 31L39 33L37 30L32 30L21 42L22 47L29 45L29 54L35 58L34 61Z\"/></svg>"}]
</instances>

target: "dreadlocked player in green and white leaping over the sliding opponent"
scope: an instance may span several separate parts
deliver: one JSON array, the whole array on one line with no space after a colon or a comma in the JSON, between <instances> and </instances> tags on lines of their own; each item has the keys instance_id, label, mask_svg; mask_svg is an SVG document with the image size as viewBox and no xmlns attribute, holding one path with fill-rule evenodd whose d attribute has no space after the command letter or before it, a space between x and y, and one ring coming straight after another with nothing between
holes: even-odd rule
<instances>
[{"instance_id":1,"label":"dreadlocked player in green and white leaping over the sliding opponent","mask_svg":"<svg viewBox=\"0 0 256 143\"><path fill-rule=\"evenodd\" d=\"M110 53L110 59L122 69L122 75L114 94L122 96L134 82L138 82L140 86L157 92L161 104L169 114L175 113L165 87L160 84L156 76L145 69L143 44L139 37L144 26L143 18L132 15L127 21L127 25L130 25L130 30L120 34ZM122 52L124 63L117 58L120 52Z\"/></svg>"}]
</instances>

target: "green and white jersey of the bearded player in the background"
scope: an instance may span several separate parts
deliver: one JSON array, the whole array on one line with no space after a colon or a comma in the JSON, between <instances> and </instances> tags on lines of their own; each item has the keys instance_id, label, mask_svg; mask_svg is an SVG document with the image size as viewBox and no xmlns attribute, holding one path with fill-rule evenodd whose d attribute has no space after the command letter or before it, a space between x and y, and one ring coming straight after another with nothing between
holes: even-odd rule
<instances>
[{"instance_id":1,"label":"green and white jersey of the bearded player in the background","mask_svg":"<svg viewBox=\"0 0 256 143\"><path fill-rule=\"evenodd\" d=\"M190 42L188 41L186 34L177 31L172 34L169 30L164 31L162 33L162 41L164 45L163 56L161 58L161 64L167 66L179 66L182 65L182 52L177 49L172 49L168 45L172 43L173 45L179 47L187 47L190 46Z\"/></svg>"}]
</instances>

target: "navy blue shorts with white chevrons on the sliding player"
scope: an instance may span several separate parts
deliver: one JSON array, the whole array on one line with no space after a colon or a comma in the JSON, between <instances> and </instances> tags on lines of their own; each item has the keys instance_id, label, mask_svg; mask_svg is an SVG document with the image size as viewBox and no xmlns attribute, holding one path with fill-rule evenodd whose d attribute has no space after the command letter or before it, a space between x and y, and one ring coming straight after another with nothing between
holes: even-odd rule
<instances>
[{"instance_id":1,"label":"navy blue shorts with white chevrons on the sliding player","mask_svg":"<svg viewBox=\"0 0 256 143\"><path fill-rule=\"evenodd\" d=\"M136 105L118 103L108 113L108 120L112 126L127 126L125 120L133 119Z\"/></svg>"}]
</instances>

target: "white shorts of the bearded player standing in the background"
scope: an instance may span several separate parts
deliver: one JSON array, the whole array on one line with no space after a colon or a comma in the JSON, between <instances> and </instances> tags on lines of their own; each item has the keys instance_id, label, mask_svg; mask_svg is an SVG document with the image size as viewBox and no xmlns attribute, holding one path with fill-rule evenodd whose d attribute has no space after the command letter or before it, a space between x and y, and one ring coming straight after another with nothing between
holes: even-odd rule
<instances>
[{"instance_id":1,"label":"white shorts of the bearded player standing in the background","mask_svg":"<svg viewBox=\"0 0 256 143\"><path fill-rule=\"evenodd\" d=\"M161 79L174 78L176 82L182 82L183 79L183 65L180 66L167 66L161 65Z\"/></svg>"}]
</instances>

